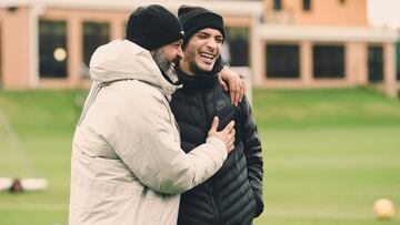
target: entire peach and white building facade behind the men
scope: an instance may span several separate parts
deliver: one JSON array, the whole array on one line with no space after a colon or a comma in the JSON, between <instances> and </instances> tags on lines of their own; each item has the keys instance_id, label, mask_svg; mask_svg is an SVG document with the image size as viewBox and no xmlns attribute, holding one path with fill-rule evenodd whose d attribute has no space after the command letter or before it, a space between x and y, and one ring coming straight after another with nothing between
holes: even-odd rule
<instances>
[{"instance_id":1,"label":"entire peach and white building facade behind the men","mask_svg":"<svg viewBox=\"0 0 400 225\"><path fill-rule=\"evenodd\" d=\"M370 28L367 0L12 0L0 2L2 89L89 85L97 47L124 37L137 7L204 6L223 16L223 57L258 88L382 83L397 95L392 30Z\"/></svg>"}]
</instances>

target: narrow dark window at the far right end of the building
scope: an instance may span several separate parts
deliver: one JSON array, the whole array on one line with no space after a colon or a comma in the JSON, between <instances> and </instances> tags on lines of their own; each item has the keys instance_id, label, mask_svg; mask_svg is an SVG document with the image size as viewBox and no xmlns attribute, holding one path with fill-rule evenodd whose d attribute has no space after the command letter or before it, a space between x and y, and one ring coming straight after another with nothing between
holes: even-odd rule
<instances>
[{"instance_id":1,"label":"narrow dark window at the far right end of the building","mask_svg":"<svg viewBox=\"0 0 400 225\"><path fill-rule=\"evenodd\" d=\"M368 47L368 80L381 82L383 80L383 49Z\"/></svg>"}]
</instances>

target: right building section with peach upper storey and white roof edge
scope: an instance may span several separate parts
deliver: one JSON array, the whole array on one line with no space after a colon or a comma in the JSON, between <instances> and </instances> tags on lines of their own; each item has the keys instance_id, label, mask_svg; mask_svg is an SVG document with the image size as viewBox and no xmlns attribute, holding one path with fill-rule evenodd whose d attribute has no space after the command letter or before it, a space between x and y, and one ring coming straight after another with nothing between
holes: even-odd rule
<instances>
[{"instance_id":1,"label":"right building section with peach upper storey and white roof edge","mask_svg":"<svg viewBox=\"0 0 400 225\"><path fill-rule=\"evenodd\" d=\"M264 0L260 64L264 88L382 83L397 95L393 30L370 28L367 0Z\"/></svg>"}]
</instances>

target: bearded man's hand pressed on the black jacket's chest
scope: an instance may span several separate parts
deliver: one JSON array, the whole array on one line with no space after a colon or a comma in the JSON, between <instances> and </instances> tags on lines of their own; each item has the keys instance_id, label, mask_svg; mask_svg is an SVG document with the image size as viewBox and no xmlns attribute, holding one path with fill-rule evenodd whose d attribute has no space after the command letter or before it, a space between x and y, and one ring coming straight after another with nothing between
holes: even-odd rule
<instances>
[{"instance_id":1,"label":"bearded man's hand pressed on the black jacket's chest","mask_svg":"<svg viewBox=\"0 0 400 225\"><path fill-rule=\"evenodd\" d=\"M218 132L217 127L219 124L218 116L214 116L212 120L211 129L208 132L208 136L214 136L221 140L226 146L228 154L232 152L234 147L234 121L231 121L222 131Z\"/></svg>"}]
</instances>

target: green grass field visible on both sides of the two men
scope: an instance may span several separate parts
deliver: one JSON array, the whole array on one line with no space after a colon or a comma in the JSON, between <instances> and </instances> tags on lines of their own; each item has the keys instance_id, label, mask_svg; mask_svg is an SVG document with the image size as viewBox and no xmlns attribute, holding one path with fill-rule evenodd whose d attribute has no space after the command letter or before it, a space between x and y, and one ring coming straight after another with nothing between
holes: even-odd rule
<instances>
[{"instance_id":1,"label":"green grass field visible on both sides of the two men","mask_svg":"<svg viewBox=\"0 0 400 225\"><path fill-rule=\"evenodd\" d=\"M74 91L0 92L0 177L37 176L49 188L0 193L1 225L64 225ZM364 89L256 90L264 156L264 213L256 225L400 224L400 101ZM20 142L17 143L16 139ZM377 221L391 198L398 215Z\"/></svg>"}]
</instances>

